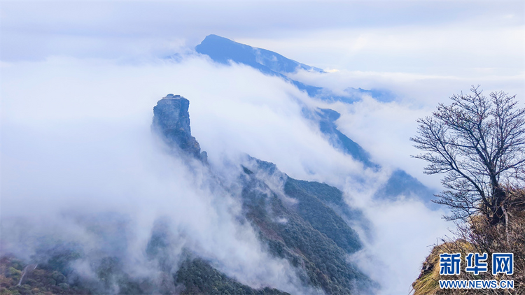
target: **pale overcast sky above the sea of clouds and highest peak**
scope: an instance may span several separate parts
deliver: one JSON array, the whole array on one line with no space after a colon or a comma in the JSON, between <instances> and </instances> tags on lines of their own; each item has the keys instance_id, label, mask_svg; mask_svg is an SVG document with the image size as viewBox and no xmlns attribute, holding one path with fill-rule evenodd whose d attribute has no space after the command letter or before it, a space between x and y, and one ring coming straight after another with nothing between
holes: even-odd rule
<instances>
[{"instance_id":1,"label":"pale overcast sky above the sea of clouds and highest peak","mask_svg":"<svg viewBox=\"0 0 525 295\"><path fill-rule=\"evenodd\" d=\"M169 55L208 34L351 71L522 75L522 1L9 2L2 60Z\"/></svg>"}]
</instances>

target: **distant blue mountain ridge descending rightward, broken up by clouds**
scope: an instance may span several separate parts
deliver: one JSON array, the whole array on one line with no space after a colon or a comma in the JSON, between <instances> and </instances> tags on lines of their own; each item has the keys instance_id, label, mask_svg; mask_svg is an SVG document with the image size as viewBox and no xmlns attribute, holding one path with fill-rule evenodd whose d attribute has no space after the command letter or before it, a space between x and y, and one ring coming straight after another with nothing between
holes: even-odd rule
<instances>
[{"instance_id":1,"label":"distant blue mountain ridge descending rightward, broken up by clouds","mask_svg":"<svg viewBox=\"0 0 525 295\"><path fill-rule=\"evenodd\" d=\"M328 89L305 85L302 82L288 78L286 74L294 73L298 69L319 73L323 73L323 70L295 62L276 52L253 48L221 36L207 36L200 45L197 45L195 50L203 55L208 55L214 62L221 64L228 64L230 61L237 62L258 69L262 73L279 76L293 83L297 88L306 91L309 96L316 96L325 101L353 103L353 101L360 99L362 95L370 95L378 101L392 101L394 98L394 94L387 90L366 90L349 87L344 90L346 96L336 96L328 91ZM304 117L318 124L319 130L328 137L328 141L330 141L334 147L351 155L353 159L362 162L367 168L372 168L374 171L381 169L381 166L372 161L370 154L364 150L363 147L337 129L335 121L339 119L340 115L335 110L328 108L317 110L304 108L302 113ZM399 199L400 197L421 199L428 207L436 208L434 204L430 202L430 199L433 199L434 193L433 190L425 187L419 180L405 171L398 169L392 173L391 178L378 190L374 197L389 200Z\"/></svg>"}]
</instances>

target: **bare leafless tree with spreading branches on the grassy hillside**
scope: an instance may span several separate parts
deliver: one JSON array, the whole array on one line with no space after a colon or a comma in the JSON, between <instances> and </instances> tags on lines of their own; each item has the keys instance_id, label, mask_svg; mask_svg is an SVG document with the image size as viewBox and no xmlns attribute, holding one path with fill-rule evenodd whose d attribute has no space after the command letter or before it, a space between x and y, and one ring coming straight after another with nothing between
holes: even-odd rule
<instances>
[{"instance_id":1,"label":"bare leafless tree with spreading branches on the grassy hillside","mask_svg":"<svg viewBox=\"0 0 525 295\"><path fill-rule=\"evenodd\" d=\"M472 86L454 94L429 117L420 118L411 141L428 161L426 174L444 173L445 190L435 203L449 206L448 220L482 213L491 224L505 224L506 187L522 187L525 168L525 108L516 96L491 92L487 98Z\"/></svg>"}]
</instances>

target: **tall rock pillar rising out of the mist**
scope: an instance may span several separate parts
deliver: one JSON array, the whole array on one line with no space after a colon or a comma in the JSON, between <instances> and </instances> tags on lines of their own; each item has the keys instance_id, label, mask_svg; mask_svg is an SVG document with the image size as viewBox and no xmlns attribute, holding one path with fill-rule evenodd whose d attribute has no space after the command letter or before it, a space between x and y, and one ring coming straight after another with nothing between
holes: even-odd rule
<instances>
[{"instance_id":1,"label":"tall rock pillar rising out of the mist","mask_svg":"<svg viewBox=\"0 0 525 295\"><path fill-rule=\"evenodd\" d=\"M191 136L189 107L188 99L168 94L153 108L152 128L162 134L168 145L179 147L183 152L206 162L207 153L201 153L199 143Z\"/></svg>"}]
</instances>

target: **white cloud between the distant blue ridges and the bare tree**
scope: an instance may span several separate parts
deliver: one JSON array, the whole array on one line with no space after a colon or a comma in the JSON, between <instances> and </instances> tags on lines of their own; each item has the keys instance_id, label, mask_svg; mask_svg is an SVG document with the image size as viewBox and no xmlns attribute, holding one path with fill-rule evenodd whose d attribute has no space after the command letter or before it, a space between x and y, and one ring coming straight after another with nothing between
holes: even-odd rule
<instances>
[{"instance_id":1,"label":"white cloud between the distant blue ridges and the bare tree","mask_svg":"<svg viewBox=\"0 0 525 295\"><path fill-rule=\"evenodd\" d=\"M438 103L449 103L449 96L468 92L472 85L481 85L488 94L505 91L516 94L521 106L525 103L524 74L492 75L424 75L414 73L337 71L310 73L300 71L293 78L307 84L332 89L344 95L347 87L384 89L391 92L393 101L380 102L370 96L353 104L325 103L342 116L338 128L349 138L363 146L380 164L403 168L424 184L440 189L440 175L424 175L421 160L410 155L419 151L412 147L410 137L416 135L416 119L431 115Z\"/></svg>"}]
</instances>

